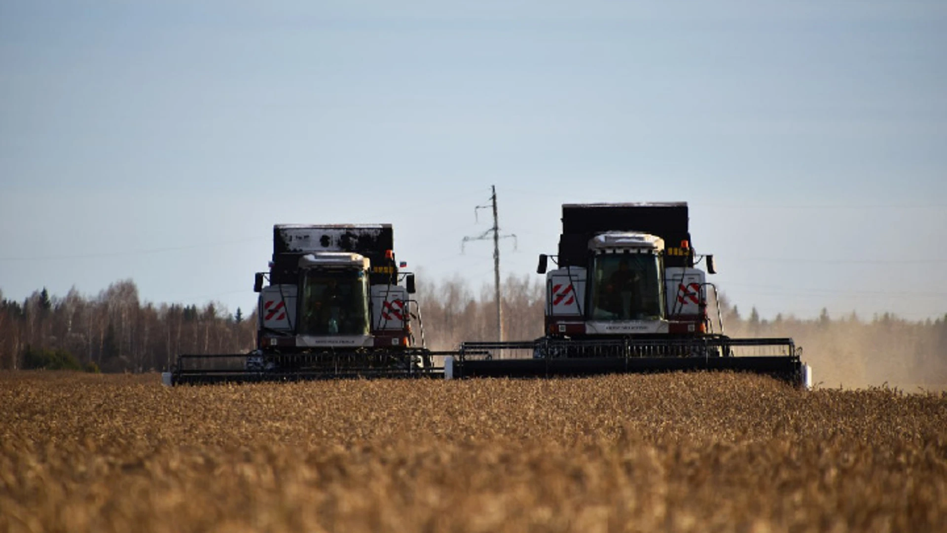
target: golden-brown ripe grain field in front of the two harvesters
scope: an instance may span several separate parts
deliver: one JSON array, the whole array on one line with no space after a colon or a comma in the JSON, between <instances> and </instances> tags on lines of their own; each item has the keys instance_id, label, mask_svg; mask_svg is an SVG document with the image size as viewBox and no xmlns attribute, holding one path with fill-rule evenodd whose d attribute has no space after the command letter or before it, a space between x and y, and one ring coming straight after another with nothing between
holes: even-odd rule
<instances>
[{"instance_id":1,"label":"golden-brown ripe grain field in front of the two harvesters","mask_svg":"<svg viewBox=\"0 0 947 533\"><path fill-rule=\"evenodd\" d=\"M0 374L2 531L947 531L947 393Z\"/></svg>"}]
</instances>

